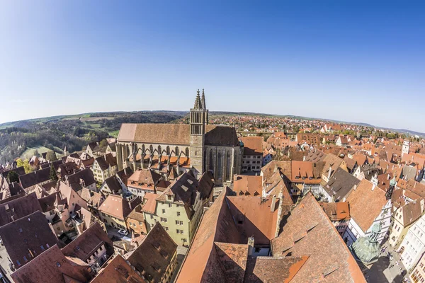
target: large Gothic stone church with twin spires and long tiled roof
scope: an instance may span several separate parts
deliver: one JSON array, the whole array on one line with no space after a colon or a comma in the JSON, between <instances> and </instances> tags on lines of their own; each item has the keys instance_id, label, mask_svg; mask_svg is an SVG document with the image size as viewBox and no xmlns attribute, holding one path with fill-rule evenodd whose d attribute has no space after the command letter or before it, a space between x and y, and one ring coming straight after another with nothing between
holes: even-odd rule
<instances>
[{"instance_id":1,"label":"large Gothic stone church with twin spires and long tiled roof","mask_svg":"<svg viewBox=\"0 0 425 283\"><path fill-rule=\"evenodd\" d=\"M192 171L210 171L215 185L232 182L240 173L242 146L234 127L208 125L205 93L196 95L189 124L123 124L117 139L119 170L151 168L174 180Z\"/></svg>"}]
</instances>

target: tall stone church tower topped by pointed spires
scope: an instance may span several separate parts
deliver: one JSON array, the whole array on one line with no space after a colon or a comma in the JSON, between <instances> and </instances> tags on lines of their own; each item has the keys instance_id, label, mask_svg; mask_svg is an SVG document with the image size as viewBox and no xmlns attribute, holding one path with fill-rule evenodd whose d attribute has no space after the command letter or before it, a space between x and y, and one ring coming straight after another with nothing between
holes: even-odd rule
<instances>
[{"instance_id":1,"label":"tall stone church tower topped by pointed spires","mask_svg":"<svg viewBox=\"0 0 425 283\"><path fill-rule=\"evenodd\" d=\"M196 169L197 175L204 172L204 142L205 142L205 126L208 124L208 110L205 105L205 93L202 90L202 98L200 93L196 94L195 105L191 109L189 123L191 127L191 145L189 149L189 157L191 158L191 166ZM198 177L198 176L197 176Z\"/></svg>"}]
</instances>

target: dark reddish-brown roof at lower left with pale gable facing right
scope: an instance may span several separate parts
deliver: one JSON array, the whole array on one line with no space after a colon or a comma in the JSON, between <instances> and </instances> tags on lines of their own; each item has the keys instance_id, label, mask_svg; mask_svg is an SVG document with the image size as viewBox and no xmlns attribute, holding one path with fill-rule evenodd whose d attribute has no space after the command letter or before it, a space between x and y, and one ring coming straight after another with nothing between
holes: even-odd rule
<instances>
[{"instance_id":1,"label":"dark reddish-brown roof at lower left with pale gable facing right","mask_svg":"<svg viewBox=\"0 0 425 283\"><path fill-rule=\"evenodd\" d=\"M106 253L108 255L113 254L113 245L108 234L103 231L101 224L94 222L86 231L81 233L77 238L74 239L67 246L62 248L64 255L79 258L86 262L93 255L94 251L105 244Z\"/></svg>"}]
</instances>

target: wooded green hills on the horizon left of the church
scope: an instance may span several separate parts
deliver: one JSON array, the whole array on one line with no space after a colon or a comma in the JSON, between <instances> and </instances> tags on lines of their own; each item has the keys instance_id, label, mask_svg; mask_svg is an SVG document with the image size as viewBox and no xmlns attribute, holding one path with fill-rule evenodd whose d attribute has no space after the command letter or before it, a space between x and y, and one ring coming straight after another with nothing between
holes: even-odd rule
<instances>
[{"instance_id":1,"label":"wooded green hills on the horizon left of the church","mask_svg":"<svg viewBox=\"0 0 425 283\"><path fill-rule=\"evenodd\" d=\"M168 123L183 112L103 112L47 117L0 125L0 164L55 151L81 151L92 141L117 137L122 123Z\"/></svg>"}]
</instances>

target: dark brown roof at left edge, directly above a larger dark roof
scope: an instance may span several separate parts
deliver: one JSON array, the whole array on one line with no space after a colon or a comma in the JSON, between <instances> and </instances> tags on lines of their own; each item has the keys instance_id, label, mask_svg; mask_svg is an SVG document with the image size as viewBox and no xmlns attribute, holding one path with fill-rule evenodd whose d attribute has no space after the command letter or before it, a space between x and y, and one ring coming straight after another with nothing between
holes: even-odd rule
<instances>
[{"instance_id":1,"label":"dark brown roof at left edge, directly above a larger dark roof","mask_svg":"<svg viewBox=\"0 0 425 283\"><path fill-rule=\"evenodd\" d=\"M4 226L12 221L16 221L34 212L42 211L35 192L24 197L0 204L0 226Z\"/></svg>"}]
</instances>

